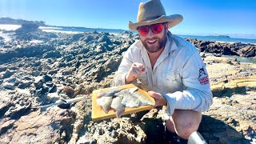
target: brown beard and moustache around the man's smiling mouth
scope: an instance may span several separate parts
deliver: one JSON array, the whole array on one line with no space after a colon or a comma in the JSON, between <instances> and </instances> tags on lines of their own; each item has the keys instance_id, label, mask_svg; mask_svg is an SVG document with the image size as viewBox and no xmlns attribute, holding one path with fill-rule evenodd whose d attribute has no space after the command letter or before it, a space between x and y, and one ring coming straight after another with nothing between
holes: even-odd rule
<instances>
[{"instance_id":1,"label":"brown beard and moustache around the man's smiling mouth","mask_svg":"<svg viewBox=\"0 0 256 144\"><path fill-rule=\"evenodd\" d=\"M154 39L157 39L157 44L154 46L149 46L148 41L154 40ZM164 36L162 38L157 38L157 37L146 38L145 41L142 41L142 40L141 41L142 41L142 45L146 48L146 50L149 53L156 53L159 50L162 50L162 48L166 45L166 40L167 40L167 34L164 34Z\"/></svg>"}]
</instances>

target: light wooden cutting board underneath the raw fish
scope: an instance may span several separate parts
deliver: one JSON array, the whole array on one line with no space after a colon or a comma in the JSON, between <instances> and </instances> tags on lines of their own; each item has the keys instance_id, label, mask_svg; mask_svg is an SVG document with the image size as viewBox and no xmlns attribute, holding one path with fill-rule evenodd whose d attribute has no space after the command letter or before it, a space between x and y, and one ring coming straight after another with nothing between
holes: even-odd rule
<instances>
[{"instance_id":1,"label":"light wooden cutting board underneath the raw fish","mask_svg":"<svg viewBox=\"0 0 256 144\"><path fill-rule=\"evenodd\" d=\"M135 87L133 84L129 84L129 85L123 85L123 86L118 86L121 89L125 89L125 88L131 88L131 87ZM100 89L100 90L94 90L93 94L92 94L92 114L91 114L91 118L92 120L95 121L99 121L99 120L103 120L103 119L107 119L107 118L115 118L116 117L116 113L114 110L110 109L110 111L108 112L108 114L106 114L103 110L101 106L98 106L96 99L97 99L97 95L98 93L105 91L105 90L109 90L110 88L105 88L105 89ZM138 92L145 94L147 97L149 97L150 99L154 100L154 98L150 97L150 95L142 89L138 89ZM143 110L150 110L153 109L154 106L139 106L137 108L130 108L130 107L126 107L126 110L122 113L122 115L126 115L126 114L132 114L132 113L137 113L139 111L143 111Z\"/></svg>"}]
</instances>

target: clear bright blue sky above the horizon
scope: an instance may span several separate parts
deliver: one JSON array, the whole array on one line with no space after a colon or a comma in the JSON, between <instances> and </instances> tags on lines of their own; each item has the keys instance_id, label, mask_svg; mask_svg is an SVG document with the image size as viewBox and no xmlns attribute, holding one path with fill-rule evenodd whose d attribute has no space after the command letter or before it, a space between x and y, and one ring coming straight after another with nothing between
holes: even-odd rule
<instances>
[{"instance_id":1,"label":"clear bright blue sky above the horizon","mask_svg":"<svg viewBox=\"0 0 256 144\"><path fill-rule=\"evenodd\" d=\"M0 18L44 21L51 26L128 29L146 0L0 0ZM182 14L174 34L256 38L255 0L162 0L166 15Z\"/></svg>"}]
</instances>

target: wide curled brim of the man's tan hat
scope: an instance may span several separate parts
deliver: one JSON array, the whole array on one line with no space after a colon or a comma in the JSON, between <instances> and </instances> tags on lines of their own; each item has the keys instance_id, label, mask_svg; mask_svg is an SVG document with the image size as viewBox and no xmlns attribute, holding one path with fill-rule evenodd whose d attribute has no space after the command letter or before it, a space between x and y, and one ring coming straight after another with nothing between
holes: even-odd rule
<instances>
[{"instance_id":1,"label":"wide curled brim of the man's tan hat","mask_svg":"<svg viewBox=\"0 0 256 144\"><path fill-rule=\"evenodd\" d=\"M138 26L146 26L146 25L152 25L155 23L168 22L168 29L170 29L171 27L178 25L178 23L182 22L182 20L183 20L183 17L180 14L173 14L170 16L162 15L160 18L150 20L150 21L137 22L137 23L133 23L129 21L128 26L130 30L137 31Z\"/></svg>"}]
</instances>

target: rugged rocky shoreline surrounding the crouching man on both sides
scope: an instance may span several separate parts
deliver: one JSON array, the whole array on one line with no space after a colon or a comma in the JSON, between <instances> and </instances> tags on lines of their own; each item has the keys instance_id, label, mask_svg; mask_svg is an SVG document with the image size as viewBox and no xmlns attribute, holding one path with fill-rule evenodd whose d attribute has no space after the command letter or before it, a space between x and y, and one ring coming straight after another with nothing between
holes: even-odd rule
<instances>
[{"instance_id":1,"label":"rugged rocky shoreline surrounding the crouching man on both sides","mask_svg":"<svg viewBox=\"0 0 256 144\"><path fill-rule=\"evenodd\" d=\"M0 143L168 143L162 110L92 122L90 97L67 109L33 109L111 86L137 35L11 33L9 42L0 37ZM214 93L198 131L209 143L256 142L256 64L222 57L256 58L255 46L187 41L201 50Z\"/></svg>"}]
</instances>

